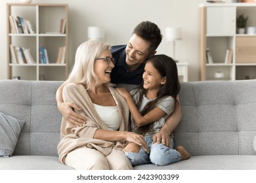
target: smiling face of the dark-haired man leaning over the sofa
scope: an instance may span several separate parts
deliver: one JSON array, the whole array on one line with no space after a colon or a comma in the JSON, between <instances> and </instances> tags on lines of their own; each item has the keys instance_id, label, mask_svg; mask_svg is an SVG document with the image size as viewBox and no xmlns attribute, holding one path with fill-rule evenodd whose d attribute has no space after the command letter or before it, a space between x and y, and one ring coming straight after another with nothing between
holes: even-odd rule
<instances>
[{"instance_id":1,"label":"smiling face of the dark-haired man leaning over the sofa","mask_svg":"<svg viewBox=\"0 0 256 183\"><path fill-rule=\"evenodd\" d=\"M149 52L150 43L133 34L126 46L126 64L129 67L139 67L147 58L154 54Z\"/></svg>"}]
</instances>

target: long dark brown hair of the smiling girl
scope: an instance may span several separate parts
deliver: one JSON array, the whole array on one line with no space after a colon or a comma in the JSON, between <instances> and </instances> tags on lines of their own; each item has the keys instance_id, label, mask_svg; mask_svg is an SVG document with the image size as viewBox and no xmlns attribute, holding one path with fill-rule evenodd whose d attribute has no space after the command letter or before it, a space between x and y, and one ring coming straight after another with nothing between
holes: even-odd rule
<instances>
[{"instance_id":1,"label":"long dark brown hair of the smiling girl","mask_svg":"<svg viewBox=\"0 0 256 183\"><path fill-rule=\"evenodd\" d=\"M173 110L175 111L177 109L177 106L179 105L179 101L177 100L177 95L181 90L179 76L178 76L178 69L175 61L172 58L161 54L161 55L153 56L152 58L148 59L146 63L148 62L152 63L153 67L156 70L158 70L158 72L162 77L166 77L166 82L161 86L160 90L158 91L156 99L148 102L147 105L142 109L140 113L142 114L142 116L144 116L146 113L148 113L150 110L152 110L158 105L158 101L160 101L161 99L167 96L171 96L175 100L175 107ZM140 86L140 89L141 89L140 91L142 92L140 92L139 102L136 104L138 108L141 105L141 101L145 93L145 90L142 86ZM137 133L143 134L145 131L150 129L150 125L151 124L139 127L140 132L137 131Z\"/></svg>"}]
</instances>

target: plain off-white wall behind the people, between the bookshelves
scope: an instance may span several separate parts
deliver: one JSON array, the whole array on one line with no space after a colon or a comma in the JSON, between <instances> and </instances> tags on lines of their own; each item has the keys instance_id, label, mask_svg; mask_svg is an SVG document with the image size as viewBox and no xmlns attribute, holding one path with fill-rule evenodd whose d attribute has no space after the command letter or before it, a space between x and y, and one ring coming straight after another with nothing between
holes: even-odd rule
<instances>
[{"instance_id":1,"label":"plain off-white wall behind the people, between the bookshelves","mask_svg":"<svg viewBox=\"0 0 256 183\"><path fill-rule=\"evenodd\" d=\"M0 2L0 79L7 78L6 3ZM203 0L33 0L32 3L68 3L69 5L69 55L70 66L75 50L87 41L88 26L102 26L105 40L111 45L127 44L133 28L144 20L157 24L163 37L165 27L182 27L182 40L176 42L175 58L188 62L189 81L199 80L199 4ZM158 54L173 56L172 42L165 39ZM71 68L71 67L70 67Z\"/></svg>"}]
</instances>

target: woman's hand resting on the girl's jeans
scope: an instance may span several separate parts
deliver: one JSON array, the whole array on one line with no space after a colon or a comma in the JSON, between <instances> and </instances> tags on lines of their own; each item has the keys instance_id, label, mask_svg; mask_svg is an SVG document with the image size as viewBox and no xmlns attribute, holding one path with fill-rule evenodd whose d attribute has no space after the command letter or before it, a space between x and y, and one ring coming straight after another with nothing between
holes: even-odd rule
<instances>
[{"instance_id":1,"label":"woman's hand resting on the girl's jeans","mask_svg":"<svg viewBox=\"0 0 256 183\"><path fill-rule=\"evenodd\" d=\"M126 136L125 140L127 142L133 142L135 144L138 144L139 146L141 146L141 148L145 152L149 153L148 145L146 144L146 141L145 141L143 135L139 135L134 132L126 131L125 136Z\"/></svg>"}]
</instances>

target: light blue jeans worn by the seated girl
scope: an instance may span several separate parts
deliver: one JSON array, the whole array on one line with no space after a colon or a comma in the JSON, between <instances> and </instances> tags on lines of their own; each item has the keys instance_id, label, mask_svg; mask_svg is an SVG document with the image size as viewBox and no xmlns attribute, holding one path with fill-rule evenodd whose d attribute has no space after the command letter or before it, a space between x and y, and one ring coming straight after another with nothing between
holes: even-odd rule
<instances>
[{"instance_id":1,"label":"light blue jeans worn by the seated girl","mask_svg":"<svg viewBox=\"0 0 256 183\"><path fill-rule=\"evenodd\" d=\"M125 152L125 155L131 161L133 166L144 165L153 163L154 165L164 166L169 165L170 163L175 163L181 161L181 154L173 149L173 139L170 137L171 148L163 145L154 143L152 144L152 136L144 137L145 141L148 144L150 153L147 154L142 148L139 152Z\"/></svg>"}]
</instances>

